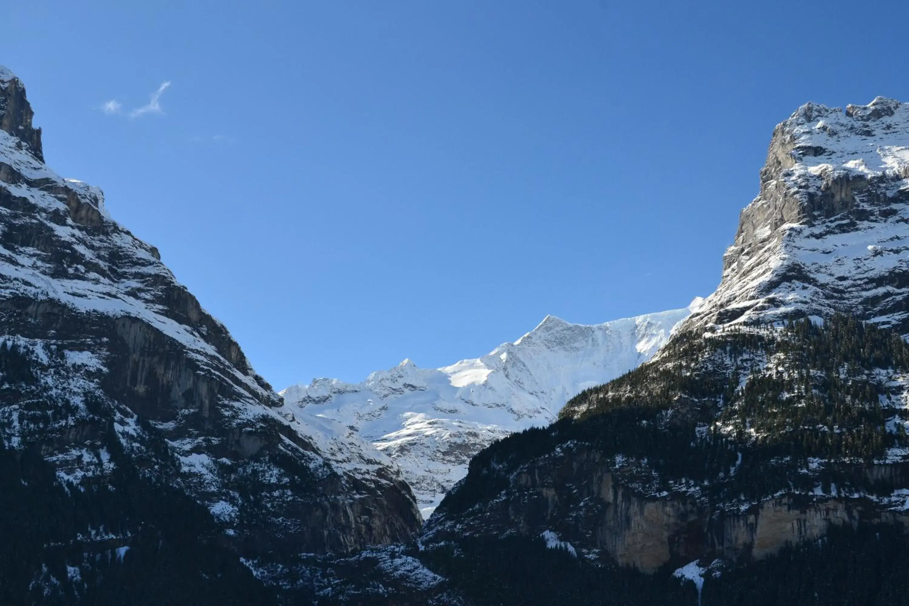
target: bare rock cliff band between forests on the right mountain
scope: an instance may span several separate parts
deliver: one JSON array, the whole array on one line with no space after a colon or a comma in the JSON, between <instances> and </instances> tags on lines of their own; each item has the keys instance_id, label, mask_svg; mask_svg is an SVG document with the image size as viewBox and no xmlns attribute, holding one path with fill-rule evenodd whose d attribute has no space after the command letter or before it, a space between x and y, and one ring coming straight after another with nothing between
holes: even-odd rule
<instances>
[{"instance_id":1,"label":"bare rock cliff band between forests on the right mountain","mask_svg":"<svg viewBox=\"0 0 909 606\"><path fill-rule=\"evenodd\" d=\"M906 512L829 495L808 500L786 494L738 510L718 509L698 495L637 490L636 478L615 467L614 458L586 444L534 458L509 468L507 484L491 501L465 512L440 510L427 528L428 540L503 533L535 538L552 531L575 549L654 573L702 559L763 560L815 541L834 526L909 522ZM905 464L849 471L884 472L888 485L909 486Z\"/></svg>"}]
</instances>

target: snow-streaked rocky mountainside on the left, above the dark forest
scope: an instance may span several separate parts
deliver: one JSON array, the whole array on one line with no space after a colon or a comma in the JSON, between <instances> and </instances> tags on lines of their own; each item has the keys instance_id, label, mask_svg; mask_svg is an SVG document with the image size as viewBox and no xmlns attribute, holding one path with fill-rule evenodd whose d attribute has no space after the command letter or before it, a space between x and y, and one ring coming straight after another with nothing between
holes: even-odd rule
<instances>
[{"instance_id":1,"label":"snow-streaked rocky mountainside on the left, above the dark forest","mask_svg":"<svg viewBox=\"0 0 909 606\"><path fill-rule=\"evenodd\" d=\"M156 507L201 508L199 544L254 570L282 554L414 537L419 512L394 463L346 428L285 407L155 247L110 218L102 192L45 166L40 134L25 88L0 69L4 456L36 453L55 478L46 490L76 495L60 497L63 509L162 487ZM16 587L91 594L95 554L120 550L128 563L151 524L112 515L60 529L62 560L29 543L35 558Z\"/></svg>"}]
</instances>

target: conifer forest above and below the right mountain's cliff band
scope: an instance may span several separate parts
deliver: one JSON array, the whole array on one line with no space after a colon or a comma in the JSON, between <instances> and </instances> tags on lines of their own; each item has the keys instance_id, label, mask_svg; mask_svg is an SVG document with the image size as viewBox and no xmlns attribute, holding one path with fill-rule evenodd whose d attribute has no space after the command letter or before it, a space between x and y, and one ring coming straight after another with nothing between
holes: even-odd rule
<instances>
[{"instance_id":1,"label":"conifer forest above and below the right mountain's cliff band","mask_svg":"<svg viewBox=\"0 0 909 606\"><path fill-rule=\"evenodd\" d=\"M894 402L894 381L907 372L909 348L898 333L842 314L824 323L728 329L707 339L677 335L654 363L580 393L553 426L481 452L441 509L455 518L482 509L514 490L514 473L560 448L607 460L619 455L614 472L650 492L697 486L702 502L718 511L781 491L805 503L818 491L824 498L837 491L886 498L901 480L866 470L888 449L907 445L902 404ZM814 464L814 473L804 472L821 460L826 464ZM455 539L429 553L427 565L464 583L475 604L697 603L694 583L671 574L684 562L648 575L608 557L584 561L517 537ZM907 558L900 523L832 526L818 541L760 561L717 560L704 573L701 599L909 603ZM500 587L509 589L499 593ZM508 601L514 592L523 601Z\"/></svg>"}]
</instances>

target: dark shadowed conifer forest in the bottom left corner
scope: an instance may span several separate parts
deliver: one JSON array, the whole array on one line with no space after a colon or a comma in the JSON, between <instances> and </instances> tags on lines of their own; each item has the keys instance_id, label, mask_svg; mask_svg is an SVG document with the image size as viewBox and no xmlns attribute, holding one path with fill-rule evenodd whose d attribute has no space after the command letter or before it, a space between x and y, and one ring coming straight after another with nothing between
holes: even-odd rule
<instances>
[{"instance_id":1,"label":"dark shadowed conifer forest in the bottom left corner","mask_svg":"<svg viewBox=\"0 0 909 606\"><path fill-rule=\"evenodd\" d=\"M118 443L105 445L122 461ZM80 489L58 482L35 449L0 449L0 511L0 603L276 603L218 544L204 508L131 465ZM42 580L58 591L47 595Z\"/></svg>"}]
</instances>

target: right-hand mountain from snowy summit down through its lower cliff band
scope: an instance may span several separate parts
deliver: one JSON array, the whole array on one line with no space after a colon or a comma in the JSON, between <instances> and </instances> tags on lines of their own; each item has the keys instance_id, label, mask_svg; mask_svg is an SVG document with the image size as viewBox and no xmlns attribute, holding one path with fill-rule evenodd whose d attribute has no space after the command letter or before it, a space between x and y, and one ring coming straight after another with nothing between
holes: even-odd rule
<instances>
[{"instance_id":1,"label":"right-hand mountain from snowy summit down through its lower cliff band","mask_svg":"<svg viewBox=\"0 0 909 606\"><path fill-rule=\"evenodd\" d=\"M882 98L779 124L717 291L652 361L474 458L425 543L555 537L588 561L704 573L836 528L898 533L907 145L909 104Z\"/></svg>"}]
</instances>

